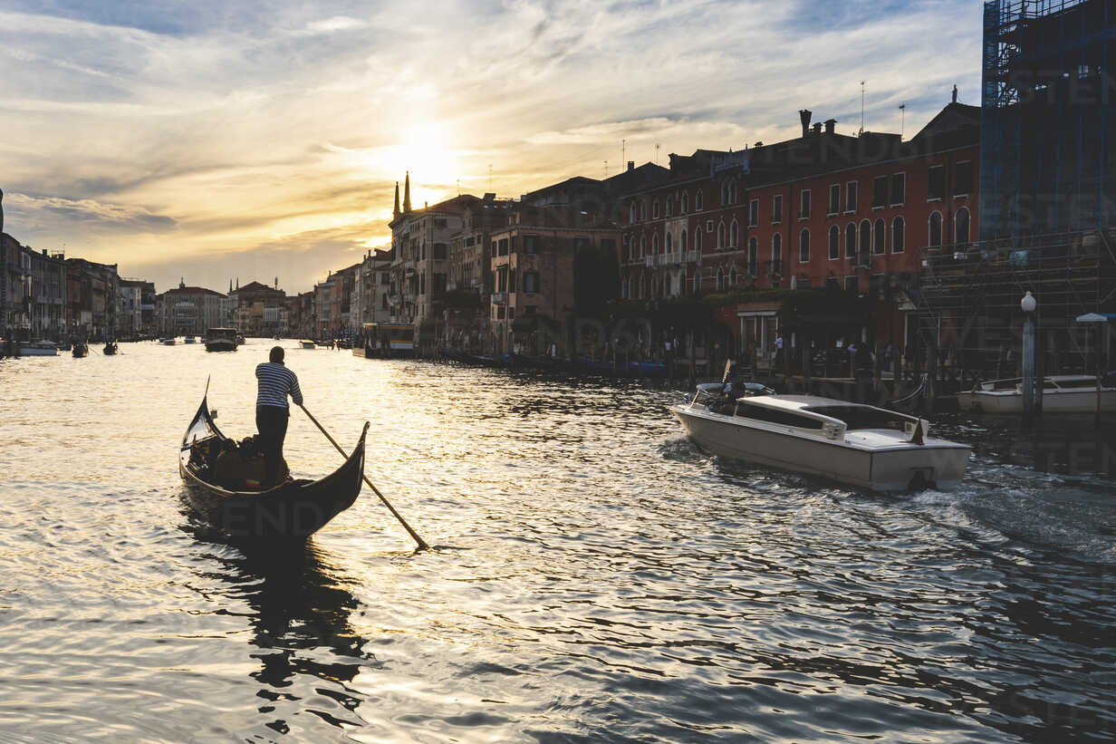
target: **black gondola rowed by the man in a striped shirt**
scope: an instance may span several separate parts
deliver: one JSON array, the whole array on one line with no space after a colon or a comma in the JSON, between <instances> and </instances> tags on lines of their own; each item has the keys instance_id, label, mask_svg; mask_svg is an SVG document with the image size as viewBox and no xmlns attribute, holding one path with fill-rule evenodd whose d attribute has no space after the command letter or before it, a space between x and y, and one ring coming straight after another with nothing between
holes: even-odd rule
<instances>
[{"instance_id":1,"label":"black gondola rowed by the man in a striped shirt","mask_svg":"<svg viewBox=\"0 0 1116 744\"><path fill-rule=\"evenodd\" d=\"M353 506L364 477L364 425L360 440L345 464L320 478L287 478L267 490L229 490L205 479L209 466L195 445L223 445L228 438L213 423L206 397L182 438L179 473L186 500L205 522L225 534L247 540L304 540Z\"/></svg>"}]
</instances>

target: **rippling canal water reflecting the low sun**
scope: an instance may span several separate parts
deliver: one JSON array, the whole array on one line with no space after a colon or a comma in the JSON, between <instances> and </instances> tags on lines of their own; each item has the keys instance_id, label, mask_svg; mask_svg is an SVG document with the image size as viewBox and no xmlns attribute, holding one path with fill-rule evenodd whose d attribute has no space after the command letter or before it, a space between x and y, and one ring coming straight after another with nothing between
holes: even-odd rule
<instances>
[{"instance_id":1,"label":"rippling canal water reflecting the low sun","mask_svg":"<svg viewBox=\"0 0 1116 744\"><path fill-rule=\"evenodd\" d=\"M1116 737L1110 429L954 417L961 488L873 495L703 455L672 391L285 342L435 550L365 489L260 554L176 462L270 345L0 362L0 741ZM287 457L339 461L299 411Z\"/></svg>"}]
</instances>

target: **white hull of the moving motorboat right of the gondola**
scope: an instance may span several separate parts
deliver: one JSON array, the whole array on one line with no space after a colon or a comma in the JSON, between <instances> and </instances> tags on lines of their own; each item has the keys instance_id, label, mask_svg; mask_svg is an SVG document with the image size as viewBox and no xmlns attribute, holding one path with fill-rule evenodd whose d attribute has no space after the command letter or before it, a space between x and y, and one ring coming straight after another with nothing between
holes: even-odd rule
<instances>
[{"instance_id":1,"label":"white hull of the moving motorboat right of the gondola","mask_svg":"<svg viewBox=\"0 0 1116 744\"><path fill-rule=\"evenodd\" d=\"M844 441L804 437L790 429L749 426L689 406L675 406L672 411L690 438L713 455L822 476L858 488L902 492L933 485L950 489L964 477L969 461L968 447L942 440L865 449Z\"/></svg>"}]
</instances>

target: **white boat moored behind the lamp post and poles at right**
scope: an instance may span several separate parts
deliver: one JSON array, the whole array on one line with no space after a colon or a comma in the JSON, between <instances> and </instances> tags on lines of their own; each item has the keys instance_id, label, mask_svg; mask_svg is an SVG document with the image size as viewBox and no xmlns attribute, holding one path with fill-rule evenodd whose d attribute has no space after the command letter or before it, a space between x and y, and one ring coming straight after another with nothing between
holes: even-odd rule
<instances>
[{"instance_id":1,"label":"white boat moored behind the lamp post and poles at right","mask_svg":"<svg viewBox=\"0 0 1116 744\"><path fill-rule=\"evenodd\" d=\"M1023 380L1010 378L981 382L969 392L958 393L963 411L1021 416ZM1059 374L1042 380L1043 413L1093 413L1097 410L1097 378L1091 374ZM1116 388L1101 381L1100 410L1116 411Z\"/></svg>"}]
</instances>

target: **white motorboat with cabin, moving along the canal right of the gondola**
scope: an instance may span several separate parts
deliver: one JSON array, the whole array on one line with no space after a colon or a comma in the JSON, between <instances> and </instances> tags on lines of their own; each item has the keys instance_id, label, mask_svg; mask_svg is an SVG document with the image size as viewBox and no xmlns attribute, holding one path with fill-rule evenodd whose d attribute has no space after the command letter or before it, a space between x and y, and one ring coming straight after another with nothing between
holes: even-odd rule
<instances>
[{"instance_id":1,"label":"white motorboat with cabin, moving along the canal right of the gondola","mask_svg":"<svg viewBox=\"0 0 1116 744\"><path fill-rule=\"evenodd\" d=\"M671 407L686 433L714 455L818 475L873 490L947 489L961 481L970 447L927 436L905 413L815 395L719 394L702 385Z\"/></svg>"}]
</instances>

